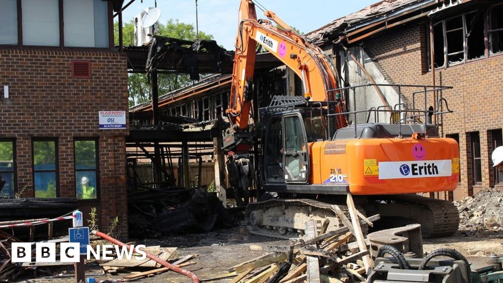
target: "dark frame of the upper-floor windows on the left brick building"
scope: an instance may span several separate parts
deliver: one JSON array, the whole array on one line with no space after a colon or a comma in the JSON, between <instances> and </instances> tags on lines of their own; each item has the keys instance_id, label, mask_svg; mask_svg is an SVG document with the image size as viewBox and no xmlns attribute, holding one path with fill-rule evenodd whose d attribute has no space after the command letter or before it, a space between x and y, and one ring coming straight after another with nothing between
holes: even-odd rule
<instances>
[{"instance_id":1,"label":"dark frame of the upper-floor windows on the left brick building","mask_svg":"<svg viewBox=\"0 0 503 283\"><path fill-rule=\"evenodd\" d=\"M25 45L23 44L23 9L21 5L22 0L16 0L18 7L18 44L0 44L3 49L68 49L68 50L115 50L114 44L114 17L112 2L108 1L107 15L108 15L108 46L109 47L69 47L64 45L64 19L63 19L63 0L58 0L59 3L59 46L44 46L44 45Z\"/></svg>"}]
</instances>

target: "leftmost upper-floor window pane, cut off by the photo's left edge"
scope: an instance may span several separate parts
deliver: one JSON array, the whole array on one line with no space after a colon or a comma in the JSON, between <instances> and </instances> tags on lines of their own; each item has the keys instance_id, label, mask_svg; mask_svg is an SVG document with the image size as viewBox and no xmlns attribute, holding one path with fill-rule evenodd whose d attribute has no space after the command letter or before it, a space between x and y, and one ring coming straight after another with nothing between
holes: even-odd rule
<instances>
[{"instance_id":1,"label":"leftmost upper-floor window pane, cut off by the photo's left edge","mask_svg":"<svg viewBox=\"0 0 503 283\"><path fill-rule=\"evenodd\" d=\"M18 3L0 0L0 44L18 44Z\"/></svg>"}]
</instances>

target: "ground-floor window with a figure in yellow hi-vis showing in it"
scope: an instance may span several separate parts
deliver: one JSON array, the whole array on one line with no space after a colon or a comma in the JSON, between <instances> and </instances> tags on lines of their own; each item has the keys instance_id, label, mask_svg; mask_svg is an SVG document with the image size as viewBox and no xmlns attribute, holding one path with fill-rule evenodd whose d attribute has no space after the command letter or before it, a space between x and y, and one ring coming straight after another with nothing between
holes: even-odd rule
<instances>
[{"instance_id":1,"label":"ground-floor window with a figure in yellow hi-vis showing in it","mask_svg":"<svg viewBox=\"0 0 503 283\"><path fill-rule=\"evenodd\" d=\"M77 139L75 152L75 190L80 199L94 199L98 195L98 150L96 139Z\"/></svg>"}]
</instances>

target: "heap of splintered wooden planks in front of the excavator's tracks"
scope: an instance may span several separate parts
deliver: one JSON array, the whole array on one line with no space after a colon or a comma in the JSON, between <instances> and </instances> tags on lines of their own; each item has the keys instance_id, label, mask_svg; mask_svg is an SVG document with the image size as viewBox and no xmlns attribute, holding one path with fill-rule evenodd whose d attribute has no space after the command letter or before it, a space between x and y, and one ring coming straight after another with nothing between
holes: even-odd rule
<instances>
[{"instance_id":1,"label":"heap of splintered wooden planks in front of the excavator's tracks","mask_svg":"<svg viewBox=\"0 0 503 283\"><path fill-rule=\"evenodd\" d=\"M326 232L329 224L326 220L319 231L316 231L316 223L308 221L305 240L295 240L289 246L253 244L250 246L251 250L269 253L232 266L228 269L230 273L219 278L233 277L231 282L234 283L365 281L372 262L367 250L368 240L363 237L361 225L372 225L371 220L376 221L379 216L367 219L358 215L352 205L348 207L353 222L341 215L344 227ZM358 218L361 218L360 222L355 221Z\"/></svg>"}]
</instances>

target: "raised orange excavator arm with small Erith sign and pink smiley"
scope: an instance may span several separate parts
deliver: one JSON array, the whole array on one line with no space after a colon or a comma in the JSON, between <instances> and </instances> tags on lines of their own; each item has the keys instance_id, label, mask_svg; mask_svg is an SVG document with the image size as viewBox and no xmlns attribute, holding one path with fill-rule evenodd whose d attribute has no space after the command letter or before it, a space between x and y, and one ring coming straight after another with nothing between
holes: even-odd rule
<instances>
[{"instance_id":1,"label":"raised orange excavator arm with small Erith sign and pink smiley","mask_svg":"<svg viewBox=\"0 0 503 283\"><path fill-rule=\"evenodd\" d=\"M342 112L344 101L341 95L331 91L338 87L337 79L323 51L297 34L274 12L265 11L264 14L269 20L257 20L253 1L241 0L232 86L226 110L231 122L239 130L248 126L257 43L302 79L306 100L337 100L340 103L336 111ZM346 125L345 117L338 116L338 127Z\"/></svg>"}]
</instances>

